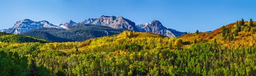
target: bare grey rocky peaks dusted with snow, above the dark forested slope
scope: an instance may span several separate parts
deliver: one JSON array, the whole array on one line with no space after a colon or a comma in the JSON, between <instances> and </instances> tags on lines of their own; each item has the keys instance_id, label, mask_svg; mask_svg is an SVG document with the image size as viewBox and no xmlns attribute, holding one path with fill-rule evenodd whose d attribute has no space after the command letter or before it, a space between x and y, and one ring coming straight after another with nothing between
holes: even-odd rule
<instances>
[{"instance_id":1,"label":"bare grey rocky peaks dusted with snow, above the dark forested slope","mask_svg":"<svg viewBox=\"0 0 256 76\"><path fill-rule=\"evenodd\" d=\"M162 25L160 21L157 21L157 20L154 20L146 24L135 25L134 22L124 18L123 16L116 17L116 16L105 16L105 15L102 15L99 18L88 18L87 20L79 23L69 20L68 22L64 24L60 24L59 26L53 25L47 21L35 22L29 19L25 19L25 20L18 21L10 29L0 30L0 31L19 34L25 31L34 30L41 27L70 29L70 27L73 27L76 25L82 25L82 26L103 25L103 26L111 27L113 29L126 29L126 30L139 31L139 32L152 32L152 33L162 34L168 37L181 36L184 34L183 32L167 29L165 26Z\"/></svg>"}]
</instances>

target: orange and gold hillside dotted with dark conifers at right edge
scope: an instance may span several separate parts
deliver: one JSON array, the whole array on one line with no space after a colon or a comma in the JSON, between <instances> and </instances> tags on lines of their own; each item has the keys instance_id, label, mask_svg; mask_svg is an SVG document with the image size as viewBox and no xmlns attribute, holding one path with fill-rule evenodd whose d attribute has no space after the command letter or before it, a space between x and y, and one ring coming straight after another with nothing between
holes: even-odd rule
<instances>
[{"instance_id":1,"label":"orange and gold hillside dotted with dark conifers at right edge","mask_svg":"<svg viewBox=\"0 0 256 76\"><path fill-rule=\"evenodd\" d=\"M243 20L242 20L243 21ZM256 25L255 22L239 21L236 23L230 23L228 25L222 26L219 29L216 29L212 32L202 32L202 33L191 33L180 36L183 42L189 44L195 43L195 40L198 42L214 42L216 40L217 44L221 44L228 48L233 45L234 48L240 46L252 46L256 44ZM237 31L238 26L241 28L240 31ZM224 30L223 30L224 29ZM190 45L188 45L190 46Z\"/></svg>"}]
</instances>

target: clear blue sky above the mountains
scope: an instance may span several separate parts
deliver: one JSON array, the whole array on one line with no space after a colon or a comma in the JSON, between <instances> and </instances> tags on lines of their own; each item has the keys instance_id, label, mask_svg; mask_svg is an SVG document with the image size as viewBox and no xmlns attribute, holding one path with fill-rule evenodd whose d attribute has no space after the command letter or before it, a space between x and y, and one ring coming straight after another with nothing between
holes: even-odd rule
<instances>
[{"instance_id":1,"label":"clear blue sky above the mountains","mask_svg":"<svg viewBox=\"0 0 256 76\"><path fill-rule=\"evenodd\" d=\"M241 18L256 20L255 4L254 0L1 0L0 29L25 18L59 25L114 15L136 24L159 20L178 31L204 32Z\"/></svg>"}]
</instances>

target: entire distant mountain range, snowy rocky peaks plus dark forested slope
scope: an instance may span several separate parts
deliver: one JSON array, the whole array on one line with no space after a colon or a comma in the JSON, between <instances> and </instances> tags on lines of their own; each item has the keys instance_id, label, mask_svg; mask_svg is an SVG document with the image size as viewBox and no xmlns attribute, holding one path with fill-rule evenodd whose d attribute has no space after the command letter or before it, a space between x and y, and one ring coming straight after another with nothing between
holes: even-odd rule
<instances>
[{"instance_id":1,"label":"entire distant mountain range, snowy rocky peaks plus dark forested slope","mask_svg":"<svg viewBox=\"0 0 256 76\"><path fill-rule=\"evenodd\" d=\"M10 29L0 31L34 36L52 42L81 42L96 37L119 34L124 30L151 32L168 37L178 37L185 34L184 32L167 29L160 21L157 20L146 24L135 24L122 16L116 17L104 15L99 18L89 18L79 23L70 20L66 23L60 24L59 26L53 25L47 21L35 22L25 19L18 21Z\"/></svg>"}]
</instances>

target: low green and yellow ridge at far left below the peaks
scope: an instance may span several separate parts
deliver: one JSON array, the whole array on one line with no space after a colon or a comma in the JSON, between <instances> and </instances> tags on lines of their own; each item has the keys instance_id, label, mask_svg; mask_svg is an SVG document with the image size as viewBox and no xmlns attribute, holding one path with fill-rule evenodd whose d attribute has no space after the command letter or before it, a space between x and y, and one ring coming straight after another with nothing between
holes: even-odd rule
<instances>
[{"instance_id":1,"label":"low green and yellow ridge at far left below the peaks","mask_svg":"<svg viewBox=\"0 0 256 76\"><path fill-rule=\"evenodd\" d=\"M25 43L25 42L47 43L47 42L50 42L50 41L46 41L46 40L43 40L43 39L36 39L35 37L31 37L31 36L23 36L23 35L0 32L0 42L6 42L6 43Z\"/></svg>"}]
</instances>

